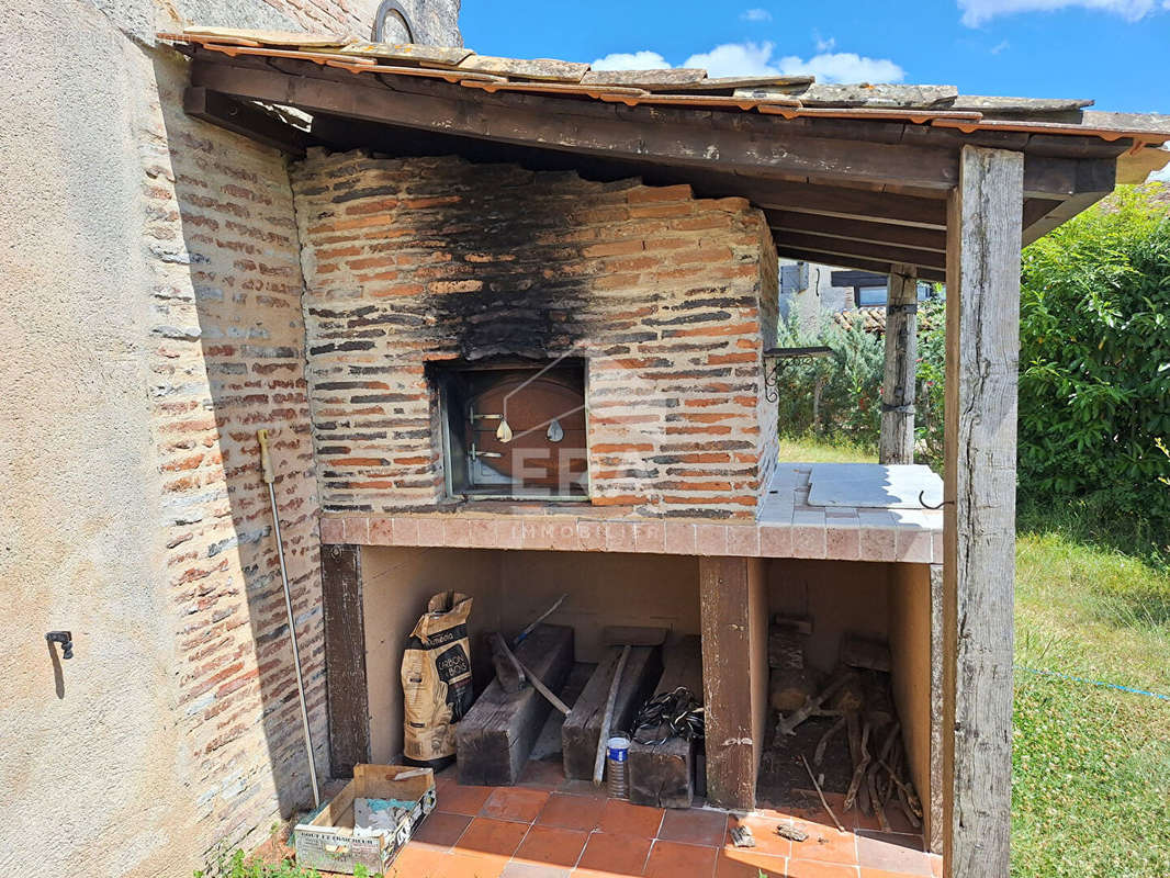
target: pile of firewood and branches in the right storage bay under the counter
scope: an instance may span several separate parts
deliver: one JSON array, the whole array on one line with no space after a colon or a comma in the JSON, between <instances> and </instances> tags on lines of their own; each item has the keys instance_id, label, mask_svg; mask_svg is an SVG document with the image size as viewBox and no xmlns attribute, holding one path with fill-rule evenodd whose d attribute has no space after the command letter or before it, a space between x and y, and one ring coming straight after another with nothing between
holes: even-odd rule
<instances>
[{"instance_id":1,"label":"pile of firewood and branches in the right storage bay under the counter","mask_svg":"<svg viewBox=\"0 0 1170 878\"><path fill-rule=\"evenodd\" d=\"M830 741L844 730L853 763L845 810L859 808L866 816L876 816L882 830L889 831L886 810L893 807L906 815L911 826L920 828L922 803L909 778L902 726L894 708L889 649L845 637L837 671L821 680L805 666L803 639L811 631L811 625L805 625L778 619L769 637L771 705L778 712L773 753L783 752L786 739L807 720L835 718L812 754L810 777L818 793L824 775L818 777L814 771L824 763Z\"/></svg>"}]
</instances>

